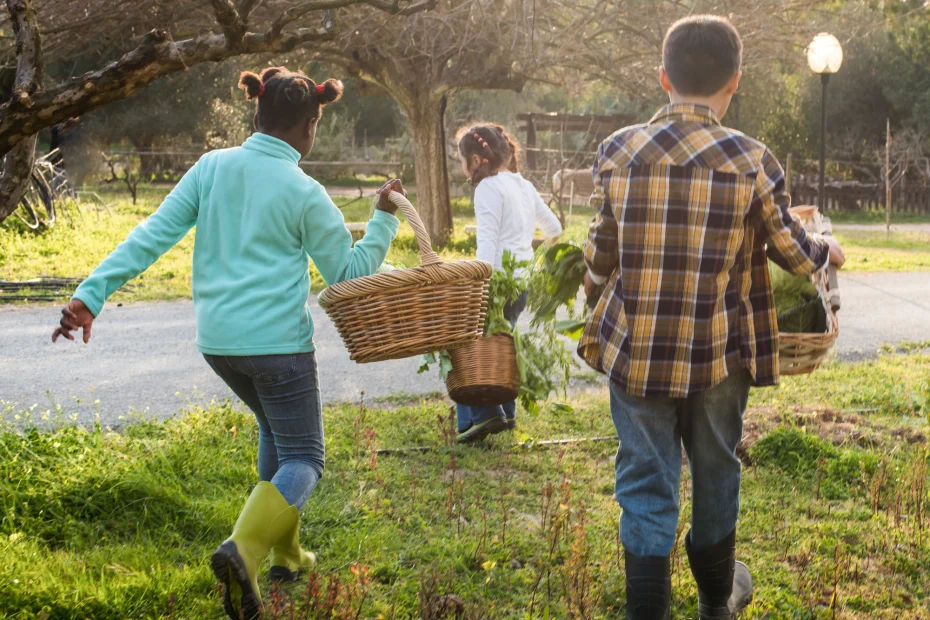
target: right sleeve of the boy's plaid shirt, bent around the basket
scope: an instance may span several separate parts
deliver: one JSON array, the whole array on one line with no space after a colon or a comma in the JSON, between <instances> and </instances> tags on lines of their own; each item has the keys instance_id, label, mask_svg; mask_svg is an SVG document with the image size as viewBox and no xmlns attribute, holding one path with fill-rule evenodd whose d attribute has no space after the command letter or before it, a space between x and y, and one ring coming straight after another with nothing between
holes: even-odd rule
<instances>
[{"instance_id":1,"label":"right sleeve of the boy's plaid shirt, bent around the basket","mask_svg":"<svg viewBox=\"0 0 930 620\"><path fill-rule=\"evenodd\" d=\"M767 244L766 253L770 259L791 273L814 273L827 263L829 247L820 235L804 230L788 212L790 206L785 173L766 149L762 168L756 175L749 215Z\"/></svg>"}]
</instances>

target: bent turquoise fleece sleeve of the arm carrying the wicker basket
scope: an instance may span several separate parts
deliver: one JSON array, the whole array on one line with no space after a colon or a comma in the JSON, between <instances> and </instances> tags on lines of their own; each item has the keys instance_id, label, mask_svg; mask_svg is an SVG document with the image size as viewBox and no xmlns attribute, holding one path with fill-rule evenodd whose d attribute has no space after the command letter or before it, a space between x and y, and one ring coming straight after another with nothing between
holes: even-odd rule
<instances>
[{"instance_id":1,"label":"bent turquoise fleece sleeve of the arm carrying the wicker basket","mask_svg":"<svg viewBox=\"0 0 930 620\"><path fill-rule=\"evenodd\" d=\"M300 222L304 251L310 255L327 286L369 276L377 271L400 222L386 211L375 211L368 221L365 236L352 245L342 211L326 191L317 186Z\"/></svg>"}]
</instances>

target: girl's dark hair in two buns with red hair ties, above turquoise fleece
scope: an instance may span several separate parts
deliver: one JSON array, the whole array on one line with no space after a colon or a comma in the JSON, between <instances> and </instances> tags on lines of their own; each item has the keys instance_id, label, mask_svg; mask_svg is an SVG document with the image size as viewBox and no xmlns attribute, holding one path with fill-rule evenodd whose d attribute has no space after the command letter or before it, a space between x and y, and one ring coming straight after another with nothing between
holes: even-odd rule
<instances>
[{"instance_id":1,"label":"girl's dark hair in two buns with red hair ties, above turquoise fleece","mask_svg":"<svg viewBox=\"0 0 930 620\"><path fill-rule=\"evenodd\" d=\"M258 129L274 131L320 118L323 106L342 97L342 82L326 80L319 86L302 73L269 67L261 75L243 71L239 88L258 106Z\"/></svg>"}]
</instances>

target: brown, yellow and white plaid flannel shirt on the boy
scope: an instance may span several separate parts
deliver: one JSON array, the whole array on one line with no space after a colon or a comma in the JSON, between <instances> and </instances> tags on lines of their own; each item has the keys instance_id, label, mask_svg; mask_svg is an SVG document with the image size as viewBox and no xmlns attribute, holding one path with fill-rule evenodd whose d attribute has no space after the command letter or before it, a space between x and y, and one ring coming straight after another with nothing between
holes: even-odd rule
<instances>
[{"instance_id":1,"label":"brown, yellow and white plaid flannel shirt on the boy","mask_svg":"<svg viewBox=\"0 0 930 620\"><path fill-rule=\"evenodd\" d=\"M684 398L740 368L778 383L768 258L821 269L764 144L698 105L669 105L604 141L585 259L607 287L578 352L625 392Z\"/></svg>"}]
</instances>

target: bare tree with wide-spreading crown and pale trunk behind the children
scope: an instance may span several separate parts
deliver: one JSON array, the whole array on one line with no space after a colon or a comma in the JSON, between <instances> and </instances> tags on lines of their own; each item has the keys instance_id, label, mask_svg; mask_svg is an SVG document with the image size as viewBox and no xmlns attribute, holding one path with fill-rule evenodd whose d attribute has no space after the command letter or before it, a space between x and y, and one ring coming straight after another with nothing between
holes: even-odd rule
<instances>
[{"instance_id":1,"label":"bare tree with wide-spreading crown and pale trunk behind the children","mask_svg":"<svg viewBox=\"0 0 930 620\"><path fill-rule=\"evenodd\" d=\"M448 190L450 97L463 91L515 90L527 83L579 92L612 84L617 98L661 99L656 73L665 30L692 12L732 14L746 41L746 66L768 70L773 58L801 58L830 3L800 0L439 0L434 10L385 28L365 7L336 14L343 36L308 50L390 94L413 135L418 207L434 241L452 227ZM602 91L603 94L603 91ZM472 94L474 98L478 95Z\"/></svg>"}]
</instances>

